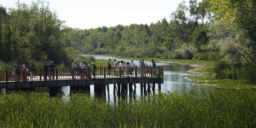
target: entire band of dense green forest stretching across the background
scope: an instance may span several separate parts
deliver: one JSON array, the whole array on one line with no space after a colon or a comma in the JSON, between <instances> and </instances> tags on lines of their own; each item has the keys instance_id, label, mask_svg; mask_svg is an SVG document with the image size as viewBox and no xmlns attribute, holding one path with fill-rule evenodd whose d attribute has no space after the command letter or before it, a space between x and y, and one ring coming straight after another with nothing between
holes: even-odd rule
<instances>
[{"instance_id":1,"label":"entire band of dense green forest stretching across the background","mask_svg":"<svg viewBox=\"0 0 256 128\"><path fill-rule=\"evenodd\" d=\"M38 0L0 7L0 60L51 61L70 65L80 53L123 57L220 60L253 65L255 0L184 0L170 21L129 26L70 28Z\"/></svg>"}]
</instances>

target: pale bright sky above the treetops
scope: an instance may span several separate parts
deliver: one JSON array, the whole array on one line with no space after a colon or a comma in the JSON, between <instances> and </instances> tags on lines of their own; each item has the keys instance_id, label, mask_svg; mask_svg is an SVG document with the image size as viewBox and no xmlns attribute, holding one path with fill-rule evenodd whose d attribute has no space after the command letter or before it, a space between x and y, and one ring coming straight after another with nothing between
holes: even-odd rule
<instances>
[{"instance_id":1,"label":"pale bright sky above the treetops","mask_svg":"<svg viewBox=\"0 0 256 128\"><path fill-rule=\"evenodd\" d=\"M7 8L15 8L18 0L0 0ZM20 0L28 5L35 0ZM177 9L181 0L46 0L67 26L90 29L102 26L156 23ZM189 0L185 0L187 5Z\"/></svg>"}]
</instances>

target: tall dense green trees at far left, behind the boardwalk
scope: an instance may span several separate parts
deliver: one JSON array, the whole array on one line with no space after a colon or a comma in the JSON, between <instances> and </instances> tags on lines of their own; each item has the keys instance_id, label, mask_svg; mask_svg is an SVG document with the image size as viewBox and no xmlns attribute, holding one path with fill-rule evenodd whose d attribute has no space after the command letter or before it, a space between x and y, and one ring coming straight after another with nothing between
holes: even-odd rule
<instances>
[{"instance_id":1,"label":"tall dense green trees at far left, behind the boardwalk","mask_svg":"<svg viewBox=\"0 0 256 128\"><path fill-rule=\"evenodd\" d=\"M51 61L57 64L67 60L62 41L65 21L49 8L44 0L16 3L15 8L0 6L0 60L24 63Z\"/></svg>"}]
</instances>

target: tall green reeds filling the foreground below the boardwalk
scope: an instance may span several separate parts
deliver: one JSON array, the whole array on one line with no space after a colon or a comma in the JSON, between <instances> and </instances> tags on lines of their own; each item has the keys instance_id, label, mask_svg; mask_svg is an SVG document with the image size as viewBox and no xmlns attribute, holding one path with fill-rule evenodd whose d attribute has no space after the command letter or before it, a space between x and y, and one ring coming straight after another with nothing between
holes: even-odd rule
<instances>
[{"instance_id":1,"label":"tall green reeds filling the foreground below the boardwalk","mask_svg":"<svg viewBox=\"0 0 256 128\"><path fill-rule=\"evenodd\" d=\"M0 127L255 128L255 102L251 89L184 88L117 104L82 94L10 94L0 96Z\"/></svg>"}]
</instances>

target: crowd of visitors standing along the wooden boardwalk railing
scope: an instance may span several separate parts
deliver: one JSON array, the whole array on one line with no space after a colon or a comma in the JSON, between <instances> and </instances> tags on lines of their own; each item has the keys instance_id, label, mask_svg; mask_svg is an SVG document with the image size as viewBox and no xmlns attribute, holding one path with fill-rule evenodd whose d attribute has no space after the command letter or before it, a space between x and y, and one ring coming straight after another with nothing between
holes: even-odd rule
<instances>
[{"instance_id":1,"label":"crowd of visitors standing along the wooden boardwalk railing","mask_svg":"<svg viewBox=\"0 0 256 128\"><path fill-rule=\"evenodd\" d=\"M108 75L115 75L115 76L124 76L124 71L126 70L126 76L132 76L133 75L133 71L134 71L134 67L136 67L135 63L133 62L133 60L131 60L131 62L126 62L126 67L124 66L124 61L116 61L116 59L114 60L114 64L111 64L111 59L108 60ZM114 73L111 73L111 68L112 66L114 67ZM138 74L139 76L146 76L147 73L147 68L145 68L147 65L146 63L144 63L144 59L140 59L139 63L138 63ZM20 69L19 66L14 66L13 68L13 75L15 76L15 81L20 80L20 75L21 75L21 80L25 79L27 80L27 74L28 74L28 63L26 62L24 65L22 65L22 68ZM49 78L49 80L54 79L55 77L55 65L53 64L53 61L50 62L50 65L47 64L47 62L44 62L44 79L47 80L47 77ZM86 61L82 61L76 64L76 62L74 61L72 63L72 69L74 70L74 75L78 75L81 78L88 78L88 73L87 73L87 69L91 67L88 62ZM160 76L160 67L156 66L154 60L152 60L152 67L153 67L153 76ZM90 71L90 74L92 75L93 78L95 78L96 76L96 68L97 66L95 65L95 63L92 64L92 69ZM119 74L119 70L121 70L121 74ZM21 73L20 71L25 71L25 73ZM77 73L76 73L77 71ZM30 72L30 76L31 79L35 77L35 63L32 62L31 64L31 72ZM25 76L23 76L25 75Z\"/></svg>"}]
</instances>

